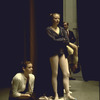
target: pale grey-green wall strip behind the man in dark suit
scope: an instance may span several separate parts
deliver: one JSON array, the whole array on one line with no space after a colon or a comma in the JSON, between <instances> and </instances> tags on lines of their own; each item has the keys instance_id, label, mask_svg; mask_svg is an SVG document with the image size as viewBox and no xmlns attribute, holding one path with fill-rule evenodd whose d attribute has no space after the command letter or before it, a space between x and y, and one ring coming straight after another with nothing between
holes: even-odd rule
<instances>
[{"instance_id":1,"label":"pale grey-green wall strip behind the man in dark suit","mask_svg":"<svg viewBox=\"0 0 100 100\"><path fill-rule=\"evenodd\" d=\"M79 45L79 33L77 26L77 0L63 0L63 21L69 23L69 29L73 31Z\"/></svg>"}]
</instances>

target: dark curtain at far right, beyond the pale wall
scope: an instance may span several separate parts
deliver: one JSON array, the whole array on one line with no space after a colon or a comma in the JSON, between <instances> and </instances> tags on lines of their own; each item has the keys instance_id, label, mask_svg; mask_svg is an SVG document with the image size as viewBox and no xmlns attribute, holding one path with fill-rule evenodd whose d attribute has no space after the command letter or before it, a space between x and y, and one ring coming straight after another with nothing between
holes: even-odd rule
<instances>
[{"instance_id":1,"label":"dark curtain at far right, beyond the pale wall","mask_svg":"<svg viewBox=\"0 0 100 100\"><path fill-rule=\"evenodd\" d=\"M77 1L78 29L84 80L100 80L99 77L99 5L94 1Z\"/></svg>"}]
</instances>

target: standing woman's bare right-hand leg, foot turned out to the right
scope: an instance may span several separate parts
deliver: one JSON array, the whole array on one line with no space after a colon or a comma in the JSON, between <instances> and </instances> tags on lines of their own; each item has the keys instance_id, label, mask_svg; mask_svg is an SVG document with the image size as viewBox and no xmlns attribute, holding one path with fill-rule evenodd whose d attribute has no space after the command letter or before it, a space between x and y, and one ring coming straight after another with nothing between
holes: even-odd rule
<instances>
[{"instance_id":1,"label":"standing woman's bare right-hand leg, foot turned out to the right","mask_svg":"<svg viewBox=\"0 0 100 100\"><path fill-rule=\"evenodd\" d=\"M67 94L67 97L71 100L74 100L75 98L72 97L69 93L69 67L68 67L68 60L65 58L65 55L63 54L59 59L60 67L63 73L63 85Z\"/></svg>"}]
</instances>

